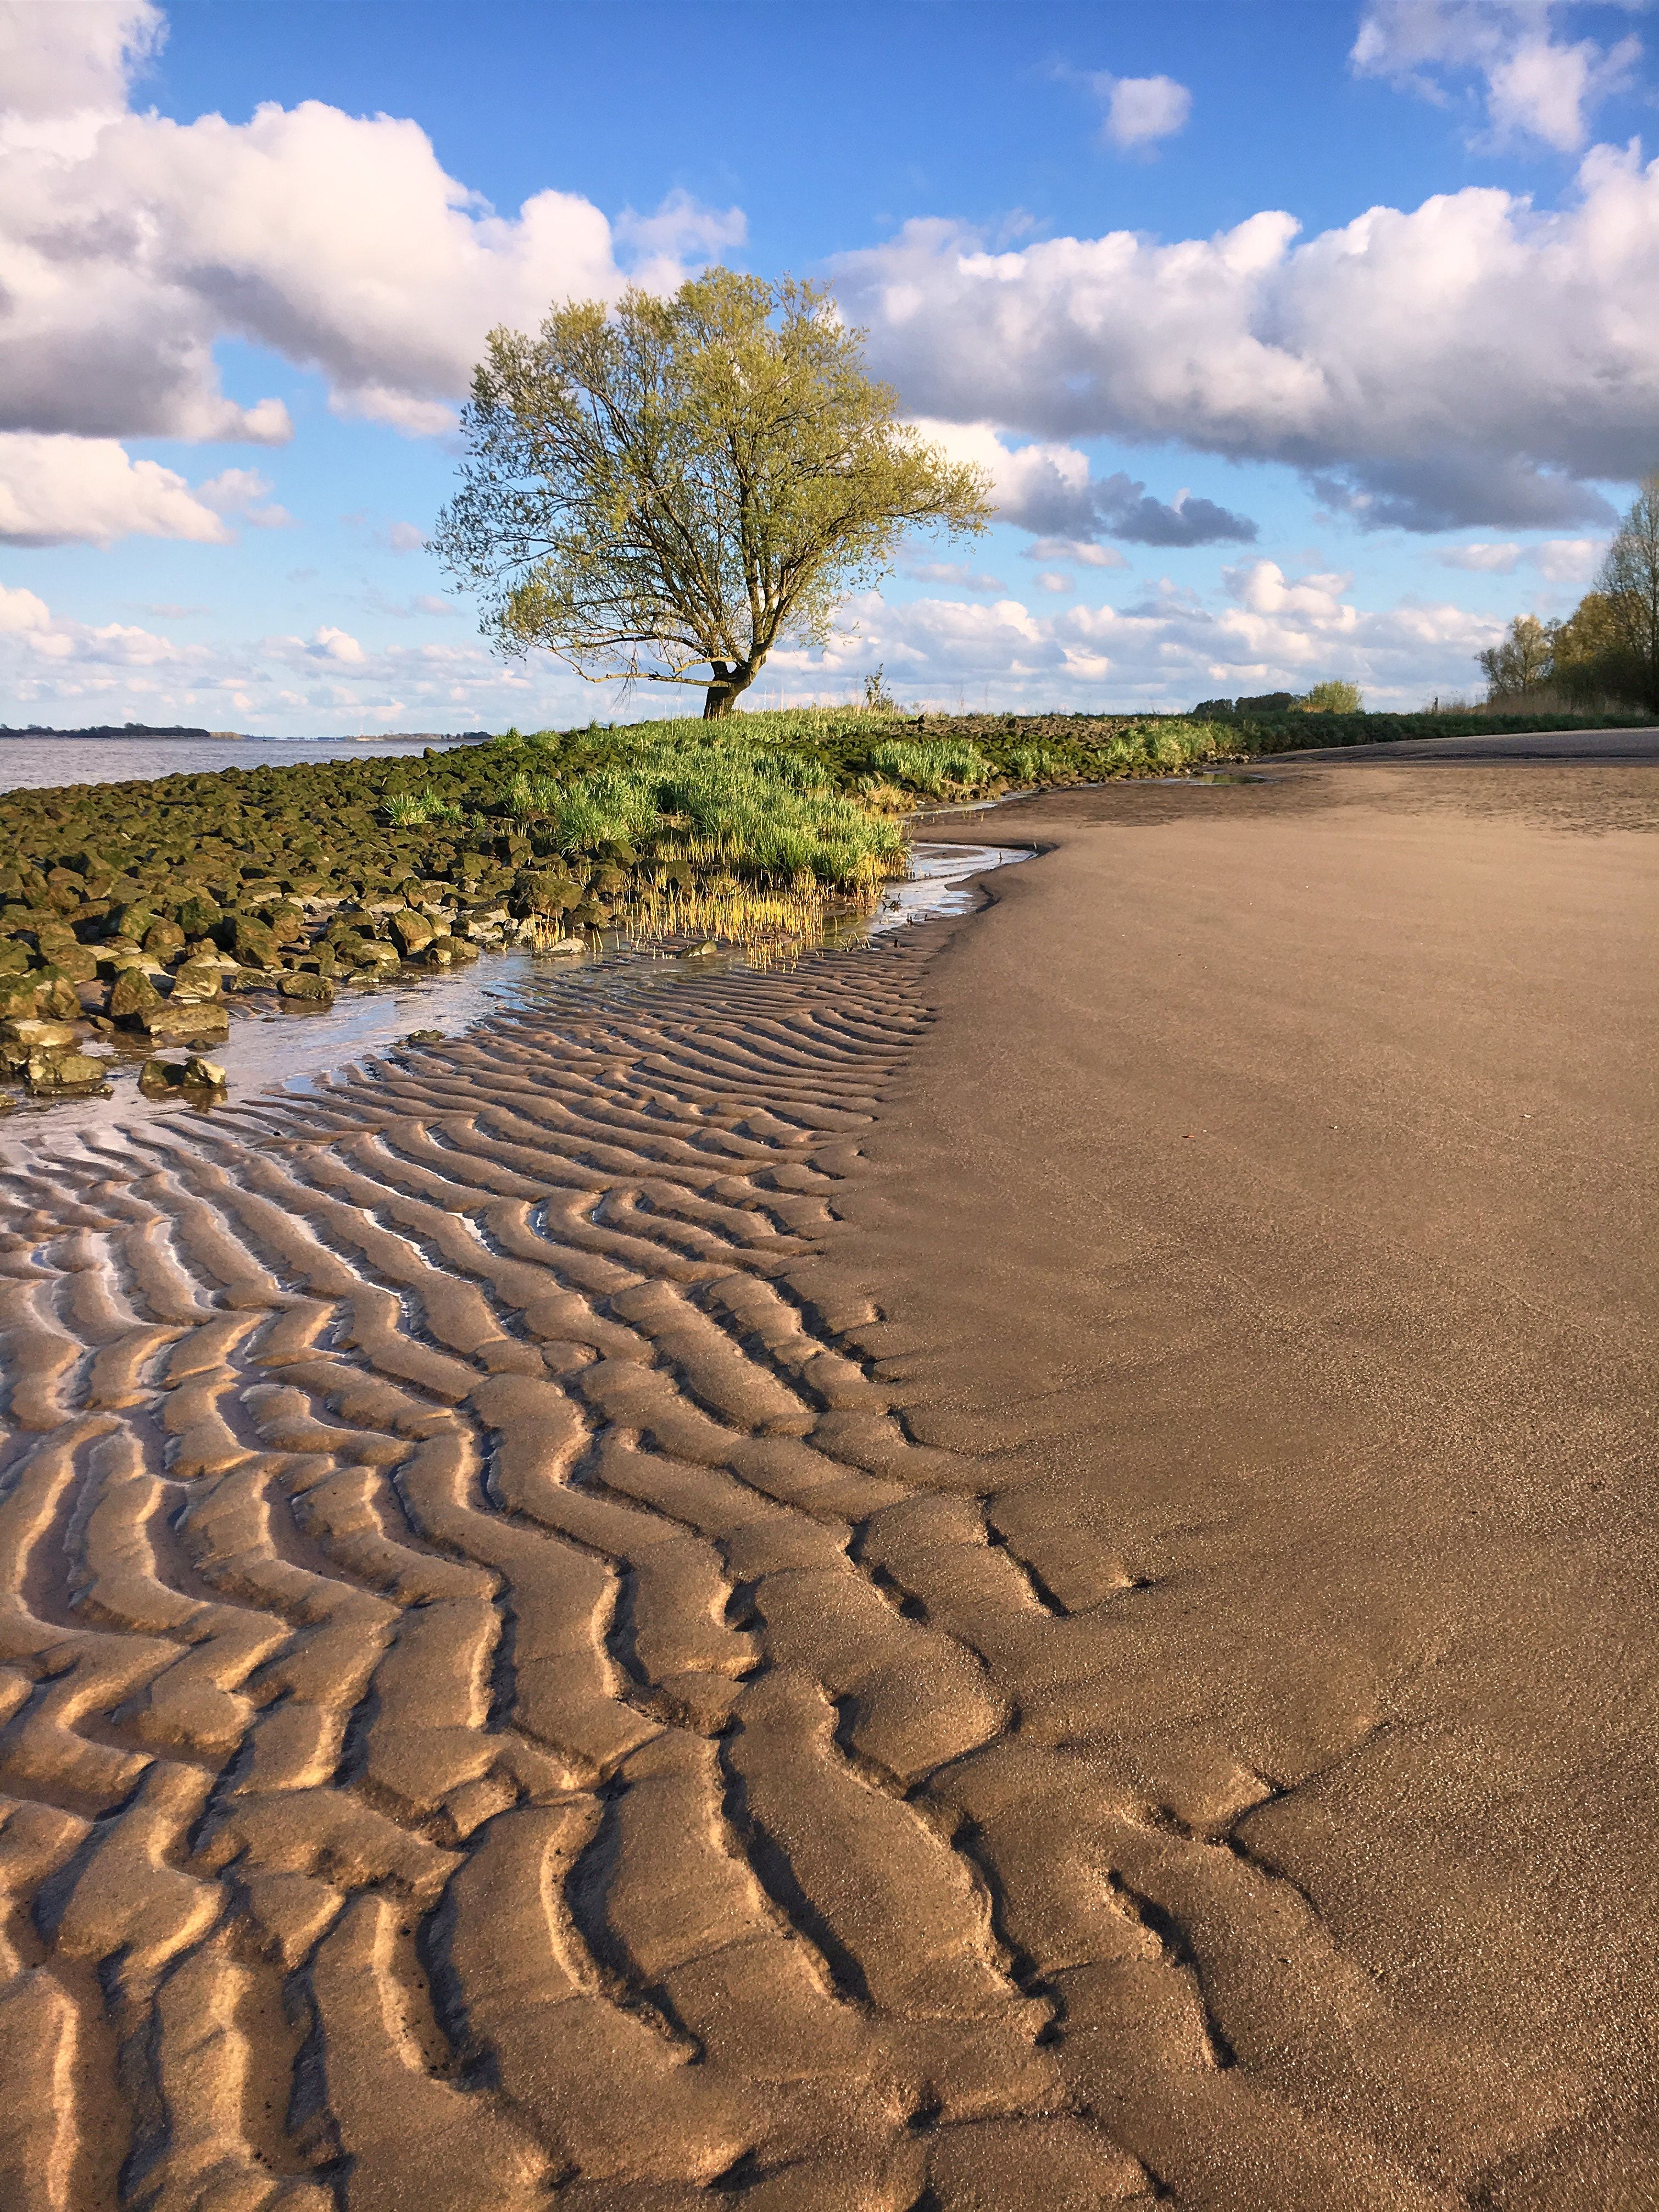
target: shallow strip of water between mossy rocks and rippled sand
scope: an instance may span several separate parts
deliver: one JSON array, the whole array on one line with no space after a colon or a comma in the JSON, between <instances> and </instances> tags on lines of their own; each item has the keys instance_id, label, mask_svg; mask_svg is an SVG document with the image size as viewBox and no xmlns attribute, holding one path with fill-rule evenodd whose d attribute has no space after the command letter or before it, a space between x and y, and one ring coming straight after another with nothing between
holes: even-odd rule
<instances>
[{"instance_id":1,"label":"shallow strip of water between mossy rocks and rippled sand","mask_svg":"<svg viewBox=\"0 0 1659 2212\"><path fill-rule=\"evenodd\" d=\"M874 914L832 922L821 942L858 945L911 922L971 914L980 894L969 887L969 876L1029 858L1031 849L1024 845L916 843L911 845L914 874L909 880L889 883ZM801 951L814 949L814 945L801 947ZM352 1062L396 1051L407 1042L411 1029L438 1029L445 1037L460 1037L498 1013L551 1002L568 1006L573 993L633 998L639 991L672 989L692 975L750 964L748 953L739 947L706 960L677 960L657 947L630 945L617 936L591 938L577 956L515 947L507 953L484 953L476 967L460 975L398 973L387 982L354 984L327 1013L252 1013L243 1011L241 1000L228 998L226 1004L232 1009L230 1037L208 1046L206 1055L230 1075L232 1104L248 1099L254 1091L305 1093ZM82 1048L91 1051L93 1057L108 1057L108 1048L100 1051L97 1042ZM108 1057L113 1097L62 1099L58 1104L18 1099L15 1110L0 1121L0 1150L4 1150L7 1137L15 1139L24 1130L97 1128L131 1119L133 1108L144 1110L150 1104L161 1113L177 1113L177 1099L148 1102L139 1097L137 1071L144 1057L148 1051ZM164 1048L164 1057L177 1060L181 1051ZM15 1093L0 1095L18 1097ZM210 1113L212 1108L201 1110Z\"/></svg>"}]
</instances>

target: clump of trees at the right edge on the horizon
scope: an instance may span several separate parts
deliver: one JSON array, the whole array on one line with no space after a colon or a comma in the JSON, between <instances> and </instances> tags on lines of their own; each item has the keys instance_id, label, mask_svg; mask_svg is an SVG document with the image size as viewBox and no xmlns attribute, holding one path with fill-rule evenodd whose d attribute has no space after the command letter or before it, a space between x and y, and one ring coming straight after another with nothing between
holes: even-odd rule
<instances>
[{"instance_id":1,"label":"clump of trees at the right edge on the horizon","mask_svg":"<svg viewBox=\"0 0 1659 2212\"><path fill-rule=\"evenodd\" d=\"M1475 659L1493 703L1548 695L1577 708L1659 710L1659 469L1641 480L1595 588L1566 622L1515 615Z\"/></svg>"}]
</instances>

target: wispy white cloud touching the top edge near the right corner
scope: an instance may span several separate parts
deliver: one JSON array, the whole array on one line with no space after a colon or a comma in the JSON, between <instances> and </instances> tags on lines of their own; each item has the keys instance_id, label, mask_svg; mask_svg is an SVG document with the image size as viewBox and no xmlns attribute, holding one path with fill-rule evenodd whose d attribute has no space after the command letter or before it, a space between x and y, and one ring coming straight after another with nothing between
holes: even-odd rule
<instances>
[{"instance_id":1,"label":"wispy white cloud touching the top edge near the right corner","mask_svg":"<svg viewBox=\"0 0 1659 2212\"><path fill-rule=\"evenodd\" d=\"M1610 49L1590 38L1559 40L1555 22L1564 13L1559 0L1371 0L1352 64L1358 75L1389 77L1438 104L1447 100L1447 75L1475 75L1493 144L1531 137L1579 153L1595 106L1630 82L1641 40L1621 38Z\"/></svg>"}]
</instances>

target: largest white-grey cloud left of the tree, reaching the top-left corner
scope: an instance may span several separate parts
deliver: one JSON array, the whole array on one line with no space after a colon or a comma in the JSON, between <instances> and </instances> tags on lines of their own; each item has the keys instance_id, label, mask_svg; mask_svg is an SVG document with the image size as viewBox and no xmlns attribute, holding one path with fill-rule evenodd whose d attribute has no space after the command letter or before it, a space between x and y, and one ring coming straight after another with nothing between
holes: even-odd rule
<instances>
[{"instance_id":1,"label":"largest white-grey cloud left of the tree, reaching the top-left corner","mask_svg":"<svg viewBox=\"0 0 1659 2212\"><path fill-rule=\"evenodd\" d=\"M279 442L281 400L243 407L219 385L212 347L234 336L316 369L341 414L445 431L493 323L615 296L624 259L675 283L684 254L741 234L737 210L681 192L617 232L573 192L498 215L418 124L316 100L246 124L137 115L124 73L159 35L155 9L11 18L0 429Z\"/></svg>"}]
</instances>

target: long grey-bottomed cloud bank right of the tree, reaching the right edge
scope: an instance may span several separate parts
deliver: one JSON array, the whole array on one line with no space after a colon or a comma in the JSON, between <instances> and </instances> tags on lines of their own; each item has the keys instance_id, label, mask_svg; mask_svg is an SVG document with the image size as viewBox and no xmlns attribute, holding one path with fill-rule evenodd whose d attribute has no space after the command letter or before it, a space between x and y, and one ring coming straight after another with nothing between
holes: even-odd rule
<instances>
[{"instance_id":1,"label":"long grey-bottomed cloud bank right of the tree, reaching the right edge","mask_svg":"<svg viewBox=\"0 0 1659 2212\"><path fill-rule=\"evenodd\" d=\"M1296 232L987 252L916 221L838 292L925 416L1290 462L1363 526L1599 524L1595 480L1659 458L1659 161L1599 146L1548 215L1471 186Z\"/></svg>"}]
</instances>

